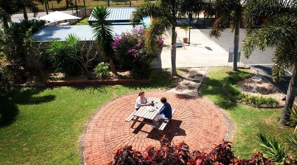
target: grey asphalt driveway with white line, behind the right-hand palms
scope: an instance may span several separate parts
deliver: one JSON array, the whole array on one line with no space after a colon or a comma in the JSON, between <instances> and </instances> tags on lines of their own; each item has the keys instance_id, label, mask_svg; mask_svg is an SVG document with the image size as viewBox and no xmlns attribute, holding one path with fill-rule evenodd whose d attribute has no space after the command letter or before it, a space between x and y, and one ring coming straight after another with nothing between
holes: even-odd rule
<instances>
[{"instance_id":1,"label":"grey asphalt driveway with white line, behind the right-hand palms","mask_svg":"<svg viewBox=\"0 0 297 165\"><path fill-rule=\"evenodd\" d=\"M199 29L203 34L207 35L209 34L210 28L205 29ZM240 29L240 41L244 38L245 33L243 29ZM229 47L233 46L233 37L234 34L230 32L230 29L226 29L222 36L219 39L211 38L214 42L219 44L221 47L223 47L225 50L229 52ZM239 46L241 46L241 42L239 43ZM286 77L279 83L275 83L272 80L271 77L271 68L273 66L272 58L273 58L273 52L272 49L267 49L266 51L262 52L260 50L255 50L249 59L244 58L243 55L240 57L240 61L243 62L245 65L255 69L259 70L259 74L263 75L263 77L266 78L269 82L274 84L277 88L279 88L280 91L283 93L287 93L287 88L290 82L291 75L293 69L287 69L289 71L286 75Z\"/></svg>"}]
</instances>

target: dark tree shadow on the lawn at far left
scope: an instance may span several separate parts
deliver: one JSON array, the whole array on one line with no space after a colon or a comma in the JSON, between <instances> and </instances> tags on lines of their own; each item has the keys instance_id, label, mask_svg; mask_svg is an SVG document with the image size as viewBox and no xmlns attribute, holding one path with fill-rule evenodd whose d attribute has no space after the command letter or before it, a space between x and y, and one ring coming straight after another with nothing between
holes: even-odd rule
<instances>
[{"instance_id":1,"label":"dark tree shadow on the lawn at far left","mask_svg":"<svg viewBox=\"0 0 297 165\"><path fill-rule=\"evenodd\" d=\"M9 92L0 91L0 126L8 126L15 121L19 108L17 104L30 105L53 101L56 96L34 96L46 88L13 88Z\"/></svg>"}]
</instances>

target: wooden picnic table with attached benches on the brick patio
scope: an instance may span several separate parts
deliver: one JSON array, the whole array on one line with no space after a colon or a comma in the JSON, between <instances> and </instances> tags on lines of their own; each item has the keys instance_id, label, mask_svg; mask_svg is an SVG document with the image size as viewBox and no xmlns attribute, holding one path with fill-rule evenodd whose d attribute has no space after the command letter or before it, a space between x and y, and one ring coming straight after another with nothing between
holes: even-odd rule
<instances>
[{"instance_id":1,"label":"wooden picnic table with attached benches on the brick patio","mask_svg":"<svg viewBox=\"0 0 297 165\"><path fill-rule=\"evenodd\" d=\"M159 111L163 107L163 104L160 101L160 99L155 98L155 97L149 97L148 102L151 102L151 101L154 101L154 103L155 103L156 109L154 111L152 111L152 112L149 111L147 108L149 106L142 106L138 110L134 110L125 121L127 121L127 122L130 122L131 120L134 121L131 125L131 128L133 128L133 126L135 125L136 122L155 126L158 130L159 135L163 136L161 130L162 131L164 130L165 126L168 124L170 119L168 119L168 120L164 119L163 122L161 123L161 125L158 126L156 121L154 120L154 118L156 117L156 115L159 113ZM172 115L174 114L175 110L176 109L172 109ZM134 117L136 117L136 118L134 119ZM139 120L139 118L147 119L147 121Z\"/></svg>"}]
</instances>

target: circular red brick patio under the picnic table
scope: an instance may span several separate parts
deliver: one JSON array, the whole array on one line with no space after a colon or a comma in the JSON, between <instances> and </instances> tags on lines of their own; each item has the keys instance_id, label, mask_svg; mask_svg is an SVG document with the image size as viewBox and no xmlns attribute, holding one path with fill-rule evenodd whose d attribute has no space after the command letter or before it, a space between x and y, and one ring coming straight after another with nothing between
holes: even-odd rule
<instances>
[{"instance_id":1,"label":"circular red brick patio under the picnic table","mask_svg":"<svg viewBox=\"0 0 297 165\"><path fill-rule=\"evenodd\" d=\"M156 128L125 119L134 111L137 94L123 96L106 104L91 120L85 136L85 157L89 164L107 164L121 145L132 145L143 152L146 146L159 147ZM227 134L226 119L209 101L165 92L148 92L147 97L166 97L176 112L164 129L165 136L175 143L184 140L190 150L210 151Z\"/></svg>"}]
</instances>

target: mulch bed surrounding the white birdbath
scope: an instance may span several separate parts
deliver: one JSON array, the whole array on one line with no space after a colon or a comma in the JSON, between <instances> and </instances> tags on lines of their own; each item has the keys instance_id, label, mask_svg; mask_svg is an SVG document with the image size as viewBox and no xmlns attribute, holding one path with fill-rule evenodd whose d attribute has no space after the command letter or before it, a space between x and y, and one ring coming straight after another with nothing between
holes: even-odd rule
<instances>
[{"instance_id":1,"label":"mulch bed surrounding the white birdbath","mask_svg":"<svg viewBox=\"0 0 297 165\"><path fill-rule=\"evenodd\" d=\"M252 92L254 81L251 79L242 80L236 82L236 85L242 89L244 93L252 94L252 95L263 95L263 96L270 96L272 98L277 99L279 104L285 104L285 95L280 93L274 86L268 83L266 80L262 79L262 81L257 82L256 90L258 92Z\"/></svg>"}]
</instances>

